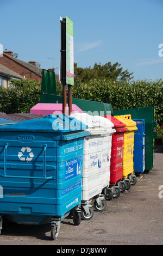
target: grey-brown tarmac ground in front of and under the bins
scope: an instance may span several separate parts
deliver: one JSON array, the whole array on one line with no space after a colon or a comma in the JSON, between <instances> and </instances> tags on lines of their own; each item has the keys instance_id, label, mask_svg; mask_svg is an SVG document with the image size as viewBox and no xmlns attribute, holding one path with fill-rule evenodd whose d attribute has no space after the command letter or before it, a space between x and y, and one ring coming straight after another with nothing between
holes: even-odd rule
<instances>
[{"instance_id":1,"label":"grey-brown tarmac ground in front of and under the bins","mask_svg":"<svg viewBox=\"0 0 163 256\"><path fill-rule=\"evenodd\" d=\"M4 221L0 245L55 245L58 252L66 246L78 245L83 248L82 253L86 253L86 246L163 245L161 147L155 148L153 169L141 174L135 186L106 204L105 211L95 211L90 221L82 220L78 226L73 224L72 218L65 218L57 240L51 239L51 224L20 225ZM89 252L95 250L87 254Z\"/></svg>"}]
</instances>

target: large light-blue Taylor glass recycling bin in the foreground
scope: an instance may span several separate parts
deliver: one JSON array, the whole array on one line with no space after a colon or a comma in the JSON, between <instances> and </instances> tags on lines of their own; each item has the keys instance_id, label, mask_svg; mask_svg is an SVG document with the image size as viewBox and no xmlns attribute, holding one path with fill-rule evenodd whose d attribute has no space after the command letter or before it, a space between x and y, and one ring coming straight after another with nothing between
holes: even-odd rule
<instances>
[{"instance_id":1,"label":"large light-blue Taylor glass recycling bin in the foreground","mask_svg":"<svg viewBox=\"0 0 163 256\"><path fill-rule=\"evenodd\" d=\"M20 224L51 223L73 214L79 224L84 136L87 126L66 114L0 127L0 228L2 218Z\"/></svg>"}]
</instances>

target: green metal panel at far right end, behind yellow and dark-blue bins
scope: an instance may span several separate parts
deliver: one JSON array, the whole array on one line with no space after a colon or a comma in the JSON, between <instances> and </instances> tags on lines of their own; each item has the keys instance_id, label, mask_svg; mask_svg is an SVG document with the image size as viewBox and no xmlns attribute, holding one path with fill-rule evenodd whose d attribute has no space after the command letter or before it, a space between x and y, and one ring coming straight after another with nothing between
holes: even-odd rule
<instances>
[{"instance_id":1,"label":"green metal panel at far right end, behind yellow and dark-blue bins","mask_svg":"<svg viewBox=\"0 0 163 256\"><path fill-rule=\"evenodd\" d=\"M157 138L154 107L138 107L114 111L114 115L131 114L133 119L145 119L145 169L151 170L154 166L154 139Z\"/></svg>"}]
</instances>

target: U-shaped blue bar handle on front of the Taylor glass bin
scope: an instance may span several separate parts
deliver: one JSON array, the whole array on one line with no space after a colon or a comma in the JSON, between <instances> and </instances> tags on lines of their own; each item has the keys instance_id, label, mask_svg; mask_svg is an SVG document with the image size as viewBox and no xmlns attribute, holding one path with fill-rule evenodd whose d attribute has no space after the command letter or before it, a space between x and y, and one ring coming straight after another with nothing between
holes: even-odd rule
<instances>
[{"instance_id":1,"label":"U-shaped blue bar handle on front of the Taylor glass bin","mask_svg":"<svg viewBox=\"0 0 163 256\"><path fill-rule=\"evenodd\" d=\"M43 147L43 177L31 177L31 176L14 176L14 175L7 175L6 169L7 169L7 147L8 143L5 143L4 147L4 173L0 174L1 177L7 177L7 178L24 178L24 179L47 179L47 180L54 180L55 177L53 176L46 176L46 148L47 144Z\"/></svg>"}]
</instances>

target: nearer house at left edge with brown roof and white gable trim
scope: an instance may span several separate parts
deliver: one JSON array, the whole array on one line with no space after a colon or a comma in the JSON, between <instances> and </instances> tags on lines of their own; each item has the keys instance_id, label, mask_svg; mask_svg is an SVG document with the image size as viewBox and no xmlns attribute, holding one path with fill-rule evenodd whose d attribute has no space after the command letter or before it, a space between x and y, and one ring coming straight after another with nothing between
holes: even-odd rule
<instances>
[{"instance_id":1,"label":"nearer house at left edge with brown roof and white gable trim","mask_svg":"<svg viewBox=\"0 0 163 256\"><path fill-rule=\"evenodd\" d=\"M23 77L16 72L8 69L6 66L0 64L0 86L8 88L11 79L22 79Z\"/></svg>"}]
</instances>

